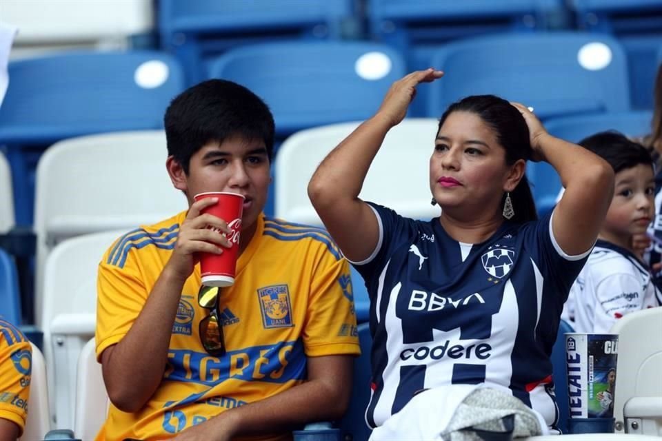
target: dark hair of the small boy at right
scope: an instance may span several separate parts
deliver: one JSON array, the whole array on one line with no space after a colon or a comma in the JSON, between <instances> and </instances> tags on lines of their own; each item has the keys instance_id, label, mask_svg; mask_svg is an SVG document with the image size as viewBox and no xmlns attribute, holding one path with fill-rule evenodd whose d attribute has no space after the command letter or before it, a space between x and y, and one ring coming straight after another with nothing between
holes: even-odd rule
<instances>
[{"instance_id":1,"label":"dark hair of the small boy at right","mask_svg":"<svg viewBox=\"0 0 662 441\"><path fill-rule=\"evenodd\" d=\"M579 141L579 145L607 161L614 173L639 164L653 166L653 159L643 145L613 130L588 136Z\"/></svg>"}]
</instances>

